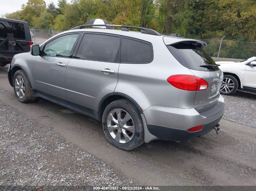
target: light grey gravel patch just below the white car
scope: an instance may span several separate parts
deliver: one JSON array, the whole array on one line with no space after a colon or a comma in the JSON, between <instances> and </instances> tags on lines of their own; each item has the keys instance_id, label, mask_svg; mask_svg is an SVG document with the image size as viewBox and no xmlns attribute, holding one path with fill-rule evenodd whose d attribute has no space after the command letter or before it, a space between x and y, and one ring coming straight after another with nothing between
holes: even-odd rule
<instances>
[{"instance_id":1,"label":"light grey gravel patch just below the white car","mask_svg":"<svg viewBox=\"0 0 256 191\"><path fill-rule=\"evenodd\" d=\"M223 119L256 128L256 94L237 91L225 100Z\"/></svg>"}]
</instances>

